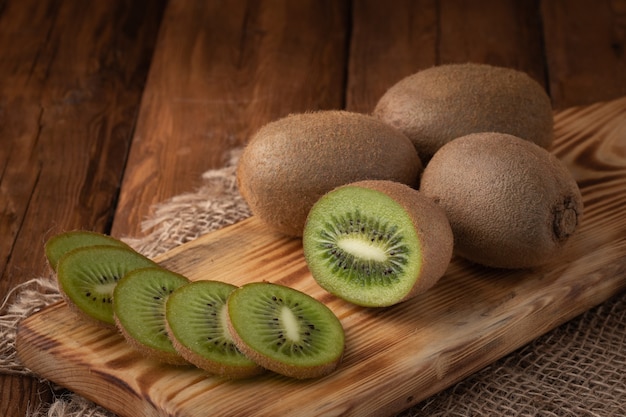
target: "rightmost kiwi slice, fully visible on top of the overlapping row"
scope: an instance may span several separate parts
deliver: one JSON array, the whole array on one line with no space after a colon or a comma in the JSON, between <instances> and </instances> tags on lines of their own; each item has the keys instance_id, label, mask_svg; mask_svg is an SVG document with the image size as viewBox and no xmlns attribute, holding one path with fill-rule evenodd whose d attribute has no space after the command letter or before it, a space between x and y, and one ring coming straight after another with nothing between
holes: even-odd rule
<instances>
[{"instance_id":1,"label":"rightmost kiwi slice, fully visible on top of the overlapping row","mask_svg":"<svg viewBox=\"0 0 626 417\"><path fill-rule=\"evenodd\" d=\"M259 365L293 378L315 378L338 366L345 335L323 303L269 282L245 284L227 301L228 326L237 348Z\"/></svg>"}]
</instances>

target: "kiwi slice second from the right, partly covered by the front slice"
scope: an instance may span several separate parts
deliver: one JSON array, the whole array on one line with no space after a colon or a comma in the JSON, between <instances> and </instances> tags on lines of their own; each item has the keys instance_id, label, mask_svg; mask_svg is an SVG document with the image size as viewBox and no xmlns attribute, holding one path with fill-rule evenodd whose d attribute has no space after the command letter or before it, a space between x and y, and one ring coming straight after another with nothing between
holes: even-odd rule
<instances>
[{"instance_id":1,"label":"kiwi slice second from the right, partly covered by the front slice","mask_svg":"<svg viewBox=\"0 0 626 417\"><path fill-rule=\"evenodd\" d=\"M228 331L226 300L236 288L220 281L195 281L174 291L165 305L174 348L198 368L226 378L264 371L237 349Z\"/></svg>"}]
</instances>

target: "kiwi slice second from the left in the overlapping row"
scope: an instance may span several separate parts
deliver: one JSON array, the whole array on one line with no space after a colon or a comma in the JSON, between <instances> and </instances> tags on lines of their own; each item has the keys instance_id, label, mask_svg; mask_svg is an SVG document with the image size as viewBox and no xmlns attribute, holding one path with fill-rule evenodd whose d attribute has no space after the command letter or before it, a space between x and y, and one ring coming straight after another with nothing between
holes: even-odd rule
<instances>
[{"instance_id":1,"label":"kiwi slice second from the left in the overlapping row","mask_svg":"<svg viewBox=\"0 0 626 417\"><path fill-rule=\"evenodd\" d=\"M92 322L114 327L113 289L128 272L157 263L118 246L84 246L63 255L57 264L59 289L68 306Z\"/></svg>"}]
</instances>

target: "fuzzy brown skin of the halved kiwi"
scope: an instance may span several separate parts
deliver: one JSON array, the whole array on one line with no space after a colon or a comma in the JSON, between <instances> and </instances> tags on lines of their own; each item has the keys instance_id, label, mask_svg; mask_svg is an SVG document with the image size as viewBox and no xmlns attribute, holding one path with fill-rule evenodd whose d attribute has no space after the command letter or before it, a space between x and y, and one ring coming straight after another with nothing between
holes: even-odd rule
<instances>
[{"instance_id":1,"label":"fuzzy brown skin of the halved kiwi","mask_svg":"<svg viewBox=\"0 0 626 417\"><path fill-rule=\"evenodd\" d=\"M405 208L420 239L422 264L419 279L404 298L410 300L433 287L445 274L454 249L450 222L444 210L421 192L393 181L366 180L351 186L379 191Z\"/></svg>"}]
</instances>

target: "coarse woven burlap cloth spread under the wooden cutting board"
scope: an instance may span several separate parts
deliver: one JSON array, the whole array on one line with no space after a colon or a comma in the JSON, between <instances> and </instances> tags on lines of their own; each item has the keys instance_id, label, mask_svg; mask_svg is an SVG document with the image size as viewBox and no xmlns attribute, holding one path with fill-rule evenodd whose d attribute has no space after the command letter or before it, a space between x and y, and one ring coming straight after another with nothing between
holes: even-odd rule
<instances>
[{"instance_id":1,"label":"coarse woven burlap cloth spread under the wooden cutting board","mask_svg":"<svg viewBox=\"0 0 626 417\"><path fill-rule=\"evenodd\" d=\"M154 257L250 216L235 183L235 151L193 193L154 208L145 237L125 239ZM60 299L53 277L15 288L0 305L0 372L37 378L15 354L17 323ZM46 382L46 381L44 381ZM55 400L30 416L114 417L50 386ZM626 296L620 294L400 414L409 416L626 416Z\"/></svg>"}]
</instances>

